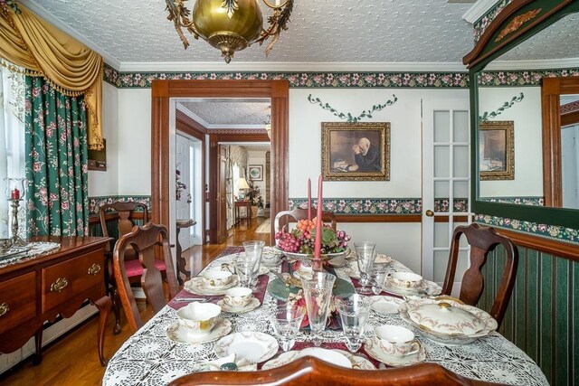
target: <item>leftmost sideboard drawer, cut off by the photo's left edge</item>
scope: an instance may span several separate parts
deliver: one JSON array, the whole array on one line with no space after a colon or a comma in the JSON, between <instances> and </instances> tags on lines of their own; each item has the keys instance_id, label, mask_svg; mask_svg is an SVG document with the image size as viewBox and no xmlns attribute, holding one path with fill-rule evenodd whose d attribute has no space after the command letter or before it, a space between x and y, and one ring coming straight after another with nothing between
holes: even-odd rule
<instances>
[{"instance_id":1,"label":"leftmost sideboard drawer, cut off by the photo's left edge","mask_svg":"<svg viewBox=\"0 0 579 386\"><path fill-rule=\"evenodd\" d=\"M36 272L0 283L0 334L36 315Z\"/></svg>"}]
</instances>

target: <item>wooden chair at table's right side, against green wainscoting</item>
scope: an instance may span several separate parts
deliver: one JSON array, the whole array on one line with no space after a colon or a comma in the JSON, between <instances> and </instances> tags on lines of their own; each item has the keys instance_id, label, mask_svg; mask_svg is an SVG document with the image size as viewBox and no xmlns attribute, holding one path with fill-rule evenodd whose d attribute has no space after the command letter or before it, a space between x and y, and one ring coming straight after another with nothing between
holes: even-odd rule
<instances>
[{"instance_id":1,"label":"wooden chair at table's right side, against green wainscoting","mask_svg":"<svg viewBox=\"0 0 579 386\"><path fill-rule=\"evenodd\" d=\"M468 226L459 226L454 230L451 240L451 253L449 264L446 268L446 277L442 286L442 294L451 295L452 284L454 283L454 274L459 259L460 237L464 235L470 245L470 267L462 277L460 286L460 300L467 305L476 306L482 295L484 280L481 269L487 262L489 252L498 245L502 245L507 255L507 262L503 276L498 287L497 297L490 309L489 314L497 320L500 327L505 312L507 311L508 301L513 287L515 286L515 277L517 276L518 249L515 243L505 236L500 236L493 228L483 227L479 224L470 224Z\"/></svg>"}]
</instances>

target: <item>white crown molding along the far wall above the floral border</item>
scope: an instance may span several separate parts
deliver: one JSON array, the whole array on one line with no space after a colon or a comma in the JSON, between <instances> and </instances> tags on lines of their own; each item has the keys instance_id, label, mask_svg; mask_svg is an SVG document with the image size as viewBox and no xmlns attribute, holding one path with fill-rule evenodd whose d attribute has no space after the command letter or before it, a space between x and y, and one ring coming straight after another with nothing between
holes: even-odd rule
<instances>
[{"instance_id":1,"label":"white crown molding along the far wall above the floral border","mask_svg":"<svg viewBox=\"0 0 579 386\"><path fill-rule=\"evenodd\" d=\"M155 61L120 63L119 72L467 72L461 62Z\"/></svg>"}]
</instances>

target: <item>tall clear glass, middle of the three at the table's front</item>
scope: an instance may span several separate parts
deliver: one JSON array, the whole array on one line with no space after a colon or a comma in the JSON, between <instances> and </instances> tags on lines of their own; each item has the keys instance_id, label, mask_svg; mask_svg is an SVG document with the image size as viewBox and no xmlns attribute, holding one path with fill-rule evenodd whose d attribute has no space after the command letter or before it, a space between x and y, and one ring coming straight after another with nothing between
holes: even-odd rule
<instances>
[{"instance_id":1,"label":"tall clear glass, middle of the three at the table's front","mask_svg":"<svg viewBox=\"0 0 579 386\"><path fill-rule=\"evenodd\" d=\"M316 346L322 344L322 332L327 324L327 311L332 300L332 290L336 277L327 272L313 272L308 277L301 278L304 297L308 308L308 321L312 342Z\"/></svg>"}]
</instances>

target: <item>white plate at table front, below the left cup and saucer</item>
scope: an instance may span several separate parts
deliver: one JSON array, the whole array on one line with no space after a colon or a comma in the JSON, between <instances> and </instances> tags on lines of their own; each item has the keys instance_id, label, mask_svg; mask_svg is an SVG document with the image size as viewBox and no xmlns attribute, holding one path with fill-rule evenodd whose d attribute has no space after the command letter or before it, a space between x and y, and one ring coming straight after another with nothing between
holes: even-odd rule
<instances>
[{"instance_id":1,"label":"white plate at table front, below the left cup and saucer","mask_svg":"<svg viewBox=\"0 0 579 386\"><path fill-rule=\"evenodd\" d=\"M273 357L279 347L278 341L269 334L246 331L221 338L215 343L214 351L220 358L235 353L238 360L245 358L257 363Z\"/></svg>"}]
</instances>

